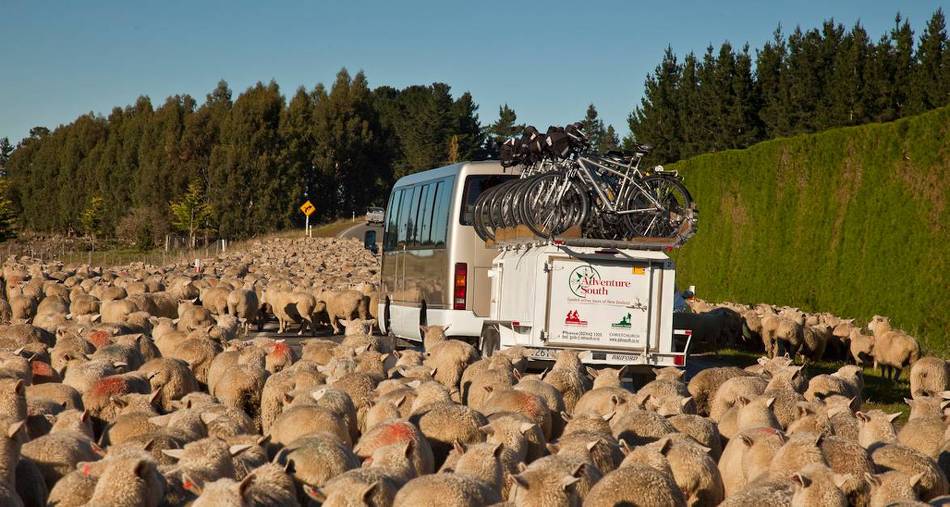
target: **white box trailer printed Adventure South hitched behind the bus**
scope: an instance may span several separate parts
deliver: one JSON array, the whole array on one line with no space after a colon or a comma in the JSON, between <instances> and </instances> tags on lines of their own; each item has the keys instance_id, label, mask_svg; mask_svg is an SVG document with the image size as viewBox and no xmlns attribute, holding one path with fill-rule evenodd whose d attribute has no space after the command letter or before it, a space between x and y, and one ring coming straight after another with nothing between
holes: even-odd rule
<instances>
[{"instance_id":1,"label":"white box trailer printed Adventure South hitched behind the bus","mask_svg":"<svg viewBox=\"0 0 950 507\"><path fill-rule=\"evenodd\" d=\"M498 248L483 354L521 345L537 360L572 349L588 364L686 365L691 333L673 328L676 269L661 248L585 239Z\"/></svg>"}]
</instances>

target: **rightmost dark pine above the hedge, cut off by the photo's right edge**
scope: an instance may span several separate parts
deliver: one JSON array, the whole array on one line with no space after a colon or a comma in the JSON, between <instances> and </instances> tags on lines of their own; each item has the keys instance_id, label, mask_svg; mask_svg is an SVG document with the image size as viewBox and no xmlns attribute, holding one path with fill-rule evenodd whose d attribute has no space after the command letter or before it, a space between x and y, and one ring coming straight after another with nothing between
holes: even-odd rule
<instances>
[{"instance_id":1,"label":"rightmost dark pine above the hedge, cut off by the photo's right edge","mask_svg":"<svg viewBox=\"0 0 950 507\"><path fill-rule=\"evenodd\" d=\"M946 19L938 8L927 22L917 48L911 110L919 113L950 103L950 71L945 68L950 44L947 41Z\"/></svg>"}]
</instances>

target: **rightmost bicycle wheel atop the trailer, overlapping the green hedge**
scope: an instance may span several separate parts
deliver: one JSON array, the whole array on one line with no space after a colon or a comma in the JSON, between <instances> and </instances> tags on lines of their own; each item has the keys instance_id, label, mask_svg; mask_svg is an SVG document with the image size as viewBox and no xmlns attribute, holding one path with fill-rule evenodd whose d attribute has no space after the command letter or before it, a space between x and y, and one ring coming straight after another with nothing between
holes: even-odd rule
<instances>
[{"instance_id":1,"label":"rightmost bicycle wheel atop the trailer, overlapping the green hedge","mask_svg":"<svg viewBox=\"0 0 950 507\"><path fill-rule=\"evenodd\" d=\"M641 182L643 191L630 200L624 214L633 237L667 238L676 234L683 221L689 220L694 207L689 190L679 179L667 174L647 176Z\"/></svg>"}]
</instances>

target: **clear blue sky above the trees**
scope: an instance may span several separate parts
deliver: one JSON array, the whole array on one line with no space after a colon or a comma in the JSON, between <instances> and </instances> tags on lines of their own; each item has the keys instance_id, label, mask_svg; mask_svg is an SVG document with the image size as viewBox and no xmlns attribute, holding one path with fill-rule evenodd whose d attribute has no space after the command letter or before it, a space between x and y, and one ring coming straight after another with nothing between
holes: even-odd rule
<instances>
[{"instance_id":1,"label":"clear blue sky above the trees","mask_svg":"<svg viewBox=\"0 0 950 507\"><path fill-rule=\"evenodd\" d=\"M0 0L0 137L14 142L139 95L203 100L276 80L285 95L341 67L372 86L446 82L482 123L511 105L542 129L593 102L621 133L669 44L755 48L781 23L861 23L876 40L900 10L916 33L947 1L59 1Z\"/></svg>"}]
</instances>

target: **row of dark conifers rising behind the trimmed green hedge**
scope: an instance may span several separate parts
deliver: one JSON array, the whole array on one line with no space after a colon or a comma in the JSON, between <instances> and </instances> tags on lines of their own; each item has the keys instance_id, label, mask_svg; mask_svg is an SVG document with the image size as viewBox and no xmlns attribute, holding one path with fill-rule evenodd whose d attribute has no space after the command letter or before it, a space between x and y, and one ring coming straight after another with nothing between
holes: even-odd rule
<instances>
[{"instance_id":1,"label":"row of dark conifers rising behind the trimmed green hedge","mask_svg":"<svg viewBox=\"0 0 950 507\"><path fill-rule=\"evenodd\" d=\"M754 56L748 45L736 50L729 42L682 60L667 48L646 78L626 141L655 145L655 161L671 162L948 103L950 43L941 9L916 41L900 14L877 42L860 23L846 30L828 20L788 37L779 26Z\"/></svg>"}]
</instances>

